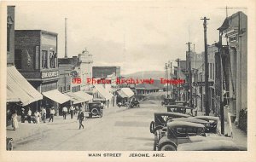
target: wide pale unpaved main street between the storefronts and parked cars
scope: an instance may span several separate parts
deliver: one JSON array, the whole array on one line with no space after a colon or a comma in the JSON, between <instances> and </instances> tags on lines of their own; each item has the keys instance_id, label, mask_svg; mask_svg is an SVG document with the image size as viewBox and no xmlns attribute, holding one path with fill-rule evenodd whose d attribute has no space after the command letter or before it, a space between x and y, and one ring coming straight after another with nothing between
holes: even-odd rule
<instances>
[{"instance_id":1,"label":"wide pale unpaved main street between the storefronts and parked cars","mask_svg":"<svg viewBox=\"0 0 256 162\"><path fill-rule=\"evenodd\" d=\"M43 133L15 143L15 150L152 151L154 136L149 124L154 112L166 109L158 101L144 101L139 108L109 107L102 118L85 119L81 130L76 118L67 116L63 121L58 117L45 123Z\"/></svg>"}]
</instances>

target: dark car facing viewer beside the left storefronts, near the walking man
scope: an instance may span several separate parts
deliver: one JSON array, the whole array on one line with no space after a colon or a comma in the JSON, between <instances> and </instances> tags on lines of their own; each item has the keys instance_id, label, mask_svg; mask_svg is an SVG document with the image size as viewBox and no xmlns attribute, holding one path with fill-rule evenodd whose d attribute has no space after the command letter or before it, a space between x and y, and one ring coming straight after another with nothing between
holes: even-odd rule
<instances>
[{"instance_id":1,"label":"dark car facing viewer beside the left storefronts, near the walking man","mask_svg":"<svg viewBox=\"0 0 256 162\"><path fill-rule=\"evenodd\" d=\"M89 107L86 110L89 114L89 118L92 118L93 116L98 116L102 118L103 115L103 107L101 106L100 101L92 101L88 103Z\"/></svg>"}]
</instances>

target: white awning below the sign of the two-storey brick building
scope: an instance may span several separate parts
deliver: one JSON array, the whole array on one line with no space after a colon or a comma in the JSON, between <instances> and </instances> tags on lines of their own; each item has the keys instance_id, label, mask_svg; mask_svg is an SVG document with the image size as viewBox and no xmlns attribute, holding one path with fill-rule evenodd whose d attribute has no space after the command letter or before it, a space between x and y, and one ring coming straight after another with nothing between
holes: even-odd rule
<instances>
[{"instance_id":1,"label":"white awning below the sign of the two-storey brick building","mask_svg":"<svg viewBox=\"0 0 256 162\"><path fill-rule=\"evenodd\" d=\"M43 95L49 98L52 101L58 102L58 103L64 103L66 101L72 100L67 95L61 94L59 90L49 90L47 92L43 92Z\"/></svg>"}]
</instances>

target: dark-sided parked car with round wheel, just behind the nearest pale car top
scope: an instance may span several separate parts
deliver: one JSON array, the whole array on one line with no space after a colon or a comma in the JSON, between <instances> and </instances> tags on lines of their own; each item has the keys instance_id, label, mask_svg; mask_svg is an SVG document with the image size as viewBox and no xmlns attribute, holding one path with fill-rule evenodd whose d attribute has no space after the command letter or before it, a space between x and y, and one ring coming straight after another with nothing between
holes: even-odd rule
<instances>
[{"instance_id":1,"label":"dark-sided parked car with round wheel, just behind the nearest pale car top","mask_svg":"<svg viewBox=\"0 0 256 162\"><path fill-rule=\"evenodd\" d=\"M206 136L205 125L185 121L169 122L166 134L160 139L157 150L177 151L179 144L190 142L189 136Z\"/></svg>"}]
</instances>

